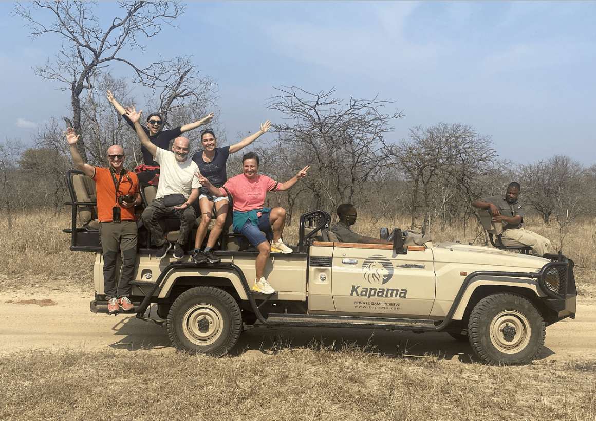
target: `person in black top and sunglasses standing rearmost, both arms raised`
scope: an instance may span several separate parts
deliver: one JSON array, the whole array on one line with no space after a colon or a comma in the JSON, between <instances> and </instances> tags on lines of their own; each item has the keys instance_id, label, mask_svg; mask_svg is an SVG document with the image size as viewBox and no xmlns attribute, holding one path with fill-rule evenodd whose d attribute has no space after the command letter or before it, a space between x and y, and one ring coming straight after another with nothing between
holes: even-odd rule
<instances>
[{"instance_id":1,"label":"person in black top and sunglasses standing rearmost, both arms raised","mask_svg":"<svg viewBox=\"0 0 596 421\"><path fill-rule=\"evenodd\" d=\"M111 105L114 106L116 111L122 115L124 120L128 122L128 124L132 127L132 130L135 130L135 125L128 118L126 115L126 109L120 105L114 96L107 90L108 92L108 101L110 101ZM156 145L157 147L161 147L162 149L169 150L170 149L170 142L176 137L182 136L182 133L186 133L187 131L194 130L197 127L200 127L203 124L207 124L213 120L213 113L207 115L207 117L203 118L202 120L198 120L195 122L187 123L185 125L173 128L172 130L163 130L165 121L162 119L162 115L157 112L153 114L149 114L147 117L147 127L143 127L145 134L149 137L149 141ZM141 145L141 152L143 154L143 162L144 164L138 165L135 168L135 172L138 174L139 182L144 184L151 184L153 186L157 186L159 183L159 164L153 159L151 152L145 147Z\"/></svg>"}]
</instances>

